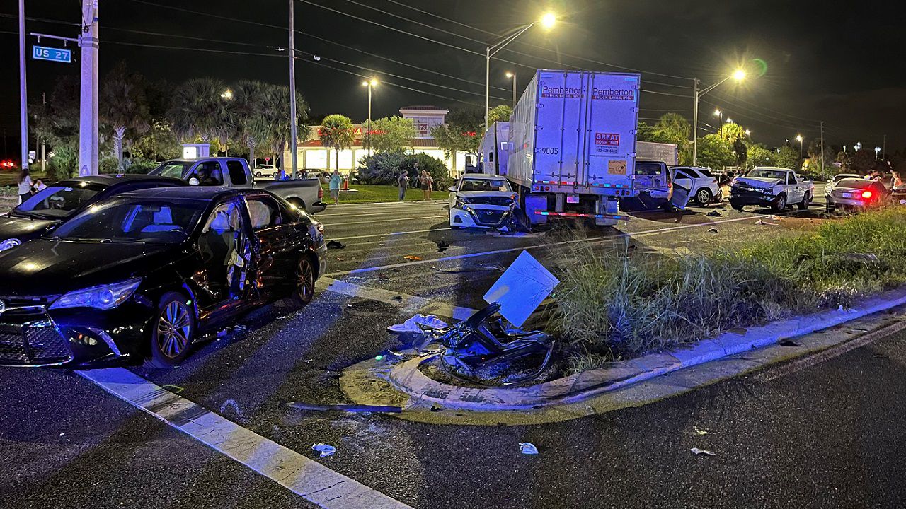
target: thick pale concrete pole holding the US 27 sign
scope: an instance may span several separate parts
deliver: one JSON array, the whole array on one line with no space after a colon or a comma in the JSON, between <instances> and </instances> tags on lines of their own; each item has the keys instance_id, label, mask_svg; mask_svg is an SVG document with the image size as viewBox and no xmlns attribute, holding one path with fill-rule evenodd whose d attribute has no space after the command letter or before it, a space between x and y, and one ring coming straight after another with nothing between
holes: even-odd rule
<instances>
[{"instance_id":1,"label":"thick pale concrete pole holding the US 27 sign","mask_svg":"<svg viewBox=\"0 0 906 509\"><path fill-rule=\"evenodd\" d=\"M98 1L82 0L79 175L98 174Z\"/></svg>"}]
</instances>

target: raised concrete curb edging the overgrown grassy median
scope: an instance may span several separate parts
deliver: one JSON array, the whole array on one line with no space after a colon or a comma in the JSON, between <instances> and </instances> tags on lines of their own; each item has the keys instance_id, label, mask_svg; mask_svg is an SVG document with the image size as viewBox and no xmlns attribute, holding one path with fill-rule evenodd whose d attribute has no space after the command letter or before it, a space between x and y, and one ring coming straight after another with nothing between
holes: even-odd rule
<instances>
[{"instance_id":1,"label":"raised concrete curb edging the overgrown grassy median","mask_svg":"<svg viewBox=\"0 0 906 509\"><path fill-rule=\"evenodd\" d=\"M401 362L379 376L410 399L427 405L438 404L443 408L478 412L545 408L582 401L643 380L764 348L903 304L906 304L906 288L866 298L853 309L816 312L747 330L728 331L694 345L625 362L613 362L605 368L583 371L531 387L468 388L448 385L421 373L419 365L427 361L423 358Z\"/></svg>"}]
</instances>

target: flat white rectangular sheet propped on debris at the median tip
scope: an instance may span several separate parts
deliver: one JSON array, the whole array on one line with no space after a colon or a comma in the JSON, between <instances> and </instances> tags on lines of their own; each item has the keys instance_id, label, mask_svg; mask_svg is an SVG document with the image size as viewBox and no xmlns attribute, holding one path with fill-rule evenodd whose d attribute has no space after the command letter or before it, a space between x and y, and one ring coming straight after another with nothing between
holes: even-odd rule
<instances>
[{"instance_id":1,"label":"flat white rectangular sheet propped on debris at the median tip","mask_svg":"<svg viewBox=\"0 0 906 509\"><path fill-rule=\"evenodd\" d=\"M485 293L486 303L499 303L500 314L516 327L544 301L560 280L523 251Z\"/></svg>"}]
</instances>

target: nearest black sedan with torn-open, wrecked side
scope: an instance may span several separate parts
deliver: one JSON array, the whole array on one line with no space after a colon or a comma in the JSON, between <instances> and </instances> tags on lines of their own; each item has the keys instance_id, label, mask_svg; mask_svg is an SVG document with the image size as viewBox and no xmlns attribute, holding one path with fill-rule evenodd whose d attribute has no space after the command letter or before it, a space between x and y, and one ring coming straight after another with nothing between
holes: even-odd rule
<instances>
[{"instance_id":1,"label":"nearest black sedan with torn-open, wrecked side","mask_svg":"<svg viewBox=\"0 0 906 509\"><path fill-rule=\"evenodd\" d=\"M0 253L0 365L177 365L204 332L313 298L323 226L271 193L143 189Z\"/></svg>"}]
</instances>

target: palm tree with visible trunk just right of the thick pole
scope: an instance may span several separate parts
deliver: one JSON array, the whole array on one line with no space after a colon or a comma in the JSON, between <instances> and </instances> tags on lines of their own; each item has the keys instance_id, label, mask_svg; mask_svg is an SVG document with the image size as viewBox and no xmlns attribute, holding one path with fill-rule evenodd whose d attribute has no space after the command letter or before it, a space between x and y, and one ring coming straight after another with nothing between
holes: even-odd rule
<instances>
[{"instance_id":1,"label":"palm tree with visible trunk just right of the thick pole","mask_svg":"<svg viewBox=\"0 0 906 509\"><path fill-rule=\"evenodd\" d=\"M139 74L126 70L125 62L120 62L104 77L101 87L101 119L113 130L113 152L123 169L123 139L127 130L130 134L139 135L150 127L148 103L142 89L142 78Z\"/></svg>"}]
</instances>

